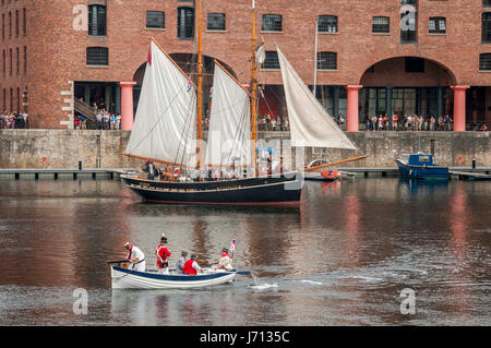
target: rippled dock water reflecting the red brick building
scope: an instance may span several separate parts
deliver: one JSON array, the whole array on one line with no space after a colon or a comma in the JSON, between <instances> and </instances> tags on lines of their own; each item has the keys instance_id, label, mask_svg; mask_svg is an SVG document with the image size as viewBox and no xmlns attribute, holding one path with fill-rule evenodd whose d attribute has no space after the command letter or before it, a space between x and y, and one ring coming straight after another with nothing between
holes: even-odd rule
<instances>
[{"instance_id":1,"label":"rippled dock water reflecting the red brick building","mask_svg":"<svg viewBox=\"0 0 491 348\"><path fill-rule=\"evenodd\" d=\"M0 325L491 325L491 183L308 182L299 209L149 205L119 181L0 180ZM127 240L153 266L237 236L254 277L115 290ZM88 314L73 313L73 291ZM416 291L402 314L400 291Z\"/></svg>"}]
</instances>

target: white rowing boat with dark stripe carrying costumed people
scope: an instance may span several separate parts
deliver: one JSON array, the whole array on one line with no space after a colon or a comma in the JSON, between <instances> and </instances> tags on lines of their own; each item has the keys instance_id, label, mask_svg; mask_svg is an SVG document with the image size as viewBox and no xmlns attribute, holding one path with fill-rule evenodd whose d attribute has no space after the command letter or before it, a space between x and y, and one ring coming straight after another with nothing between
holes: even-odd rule
<instances>
[{"instance_id":1,"label":"white rowing boat with dark stripe carrying costumed people","mask_svg":"<svg viewBox=\"0 0 491 348\"><path fill-rule=\"evenodd\" d=\"M137 272L111 265L112 289L189 289L202 288L232 281L237 271L230 272L203 268L195 276L177 274L170 269L168 275L155 271Z\"/></svg>"}]
</instances>

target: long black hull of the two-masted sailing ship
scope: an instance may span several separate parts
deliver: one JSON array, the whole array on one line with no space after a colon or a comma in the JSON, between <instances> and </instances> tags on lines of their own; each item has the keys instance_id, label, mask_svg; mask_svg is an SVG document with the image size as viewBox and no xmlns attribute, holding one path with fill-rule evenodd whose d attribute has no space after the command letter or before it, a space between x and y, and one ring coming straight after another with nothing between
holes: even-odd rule
<instances>
[{"instance_id":1,"label":"long black hull of the two-masted sailing ship","mask_svg":"<svg viewBox=\"0 0 491 348\"><path fill-rule=\"evenodd\" d=\"M121 178L143 200L172 204L299 205L302 185L295 175L189 183Z\"/></svg>"}]
</instances>

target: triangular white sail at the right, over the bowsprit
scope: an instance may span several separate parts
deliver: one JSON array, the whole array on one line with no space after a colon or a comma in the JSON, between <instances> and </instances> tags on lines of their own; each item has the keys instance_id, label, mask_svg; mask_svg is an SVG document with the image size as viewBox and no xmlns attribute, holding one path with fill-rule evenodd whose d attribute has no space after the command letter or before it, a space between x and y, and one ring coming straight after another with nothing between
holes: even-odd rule
<instances>
[{"instance_id":1,"label":"triangular white sail at the right, over the bowsprit","mask_svg":"<svg viewBox=\"0 0 491 348\"><path fill-rule=\"evenodd\" d=\"M291 146L357 149L303 83L278 47L290 123Z\"/></svg>"}]
</instances>

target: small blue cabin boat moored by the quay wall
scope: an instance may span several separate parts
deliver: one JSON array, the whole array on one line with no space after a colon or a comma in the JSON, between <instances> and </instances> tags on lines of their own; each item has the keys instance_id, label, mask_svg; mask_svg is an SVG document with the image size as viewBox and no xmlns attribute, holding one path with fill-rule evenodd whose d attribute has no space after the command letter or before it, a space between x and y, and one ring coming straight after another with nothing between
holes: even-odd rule
<instances>
[{"instance_id":1,"label":"small blue cabin boat moored by the quay wall","mask_svg":"<svg viewBox=\"0 0 491 348\"><path fill-rule=\"evenodd\" d=\"M411 179L443 179L448 180L448 167L436 166L433 155L409 154L395 160L399 168L400 177Z\"/></svg>"}]
</instances>

